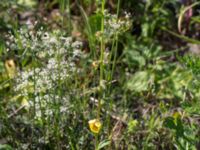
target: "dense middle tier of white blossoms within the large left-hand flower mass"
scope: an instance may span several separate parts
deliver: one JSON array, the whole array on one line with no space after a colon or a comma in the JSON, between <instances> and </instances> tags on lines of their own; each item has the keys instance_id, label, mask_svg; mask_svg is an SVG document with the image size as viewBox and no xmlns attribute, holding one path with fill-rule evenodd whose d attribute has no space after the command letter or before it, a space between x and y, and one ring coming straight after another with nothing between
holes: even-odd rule
<instances>
[{"instance_id":1,"label":"dense middle tier of white blossoms within the large left-hand flower mass","mask_svg":"<svg viewBox=\"0 0 200 150\"><path fill-rule=\"evenodd\" d=\"M41 93L56 88L59 80L63 82L79 71L75 62L50 58L45 67L20 72L16 78L15 90L21 91L22 96L28 96L33 90L35 93Z\"/></svg>"}]
</instances>

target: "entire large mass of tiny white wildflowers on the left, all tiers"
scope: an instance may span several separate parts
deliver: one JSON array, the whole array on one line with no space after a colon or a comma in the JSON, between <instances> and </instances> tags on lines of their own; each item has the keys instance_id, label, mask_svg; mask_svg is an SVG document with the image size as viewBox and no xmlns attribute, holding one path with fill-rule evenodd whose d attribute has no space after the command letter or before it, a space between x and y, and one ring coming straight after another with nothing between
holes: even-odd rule
<instances>
[{"instance_id":1,"label":"entire large mass of tiny white wildflowers on the left, all tiers","mask_svg":"<svg viewBox=\"0 0 200 150\"><path fill-rule=\"evenodd\" d=\"M66 84L73 82L75 75L83 71L77 64L87 56L81 50L82 42L53 33L20 30L18 38L10 36L10 46L15 49L21 46L22 55L35 55L37 65L18 72L14 88L16 93L26 97L29 108L36 112L35 117L40 118L42 114L51 117L56 104L59 104L60 112L67 111L70 93L65 92ZM65 94L60 94L61 91Z\"/></svg>"}]
</instances>

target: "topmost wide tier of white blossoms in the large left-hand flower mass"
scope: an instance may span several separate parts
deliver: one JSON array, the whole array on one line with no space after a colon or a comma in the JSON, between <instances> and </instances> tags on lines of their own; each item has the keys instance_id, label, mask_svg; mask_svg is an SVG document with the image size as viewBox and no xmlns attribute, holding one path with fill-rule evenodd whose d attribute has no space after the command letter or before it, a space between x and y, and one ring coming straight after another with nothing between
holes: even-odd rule
<instances>
[{"instance_id":1,"label":"topmost wide tier of white blossoms in the large left-hand flower mass","mask_svg":"<svg viewBox=\"0 0 200 150\"><path fill-rule=\"evenodd\" d=\"M66 49L69 54L73 54L72 49L80 50L82 43L73 42L72 37L62 37L58 31L53 33L44 32L43 29L35 32L27 29L20 29L15 33L16 36L9 34L8 41L6 42L8 51L10 50L23 50L23 55L31 54L37 57L52 57L57 54L66 54Z\"/></svg>"}]
</instances>

